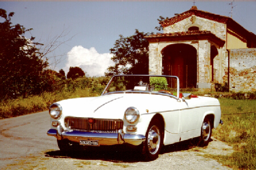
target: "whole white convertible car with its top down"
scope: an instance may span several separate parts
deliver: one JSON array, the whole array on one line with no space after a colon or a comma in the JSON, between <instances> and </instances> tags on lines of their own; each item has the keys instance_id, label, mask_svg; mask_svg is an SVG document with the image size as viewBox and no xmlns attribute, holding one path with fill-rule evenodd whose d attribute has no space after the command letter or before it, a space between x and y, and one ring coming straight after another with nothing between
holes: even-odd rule
<instances>
[{"instance_id":1,"label":"whole white convertible car with its top down","mask_svg":"<svg viewBox=\"0 0 256 170\"><path fill-rule=\"evenodd\" d=\"M49 114L47 134L61 151L132 145L147 160L163 145L196 137L206 145L222 123L217 99L180 94L179 78L167 75L115 75L101 96L58 101Z\"/></svg>"}]
</instances>

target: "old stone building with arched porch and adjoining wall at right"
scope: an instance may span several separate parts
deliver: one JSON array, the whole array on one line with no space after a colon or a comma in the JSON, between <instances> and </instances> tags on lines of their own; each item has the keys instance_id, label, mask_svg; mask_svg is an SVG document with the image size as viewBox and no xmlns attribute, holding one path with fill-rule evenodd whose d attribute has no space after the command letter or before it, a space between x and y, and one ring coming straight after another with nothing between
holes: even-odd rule
<instances>
[{"instance_id":1,"label":"old stone building with arched porch and adjoining wall at right","mask_svg":"<svg viewBox=\"0 0 256 170\"><path fill-rule=\"evenodd\" d=\"M256 35L232 18L197 10L166 19L147 36L149 74L176 75L181 88L256 91Z\"/></svg>"}]
</instances>

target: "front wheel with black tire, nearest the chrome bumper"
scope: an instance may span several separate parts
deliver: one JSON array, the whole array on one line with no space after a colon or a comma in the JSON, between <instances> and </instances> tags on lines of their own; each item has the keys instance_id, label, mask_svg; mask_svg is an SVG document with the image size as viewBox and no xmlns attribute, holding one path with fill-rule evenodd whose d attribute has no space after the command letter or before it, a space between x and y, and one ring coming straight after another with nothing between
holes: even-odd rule
<instances>
[{"instance_id":1,"label":"front wheel with black tire, nearest the chrome bumper","mask_svg":"<svg viewBox=\"0 0 256 170\"><path fill-rule=\"evenodd\" d=\"M163 146L163 128L159 120L150 122L146 133L146 141L143 142L142 154L145 160L155 160Z\"/></svg>"}]
</instances>

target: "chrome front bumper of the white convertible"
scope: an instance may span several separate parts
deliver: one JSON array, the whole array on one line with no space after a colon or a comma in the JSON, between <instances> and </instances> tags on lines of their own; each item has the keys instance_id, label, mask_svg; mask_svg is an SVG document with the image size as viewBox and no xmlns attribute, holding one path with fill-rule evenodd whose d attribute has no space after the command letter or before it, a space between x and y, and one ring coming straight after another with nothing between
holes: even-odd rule
<instances>
[{"instance_id":1,"label":"chrome front bumper of the white convertible","mask_svg":"<svg viewBox=\"0 0 256 170\"><path fill-rule=\"evenodd\" d=\"M138 146L146 140L146 137L141 134L125 134L122 129L118 133L93 133L87 131L65 131L61 125L56 129L49 129L47 135L54 136L58 140L68 139L73 142L80 142L80 140L98 141L99 145L118 145L129 143Z\"/></svg>"}]
</instances>

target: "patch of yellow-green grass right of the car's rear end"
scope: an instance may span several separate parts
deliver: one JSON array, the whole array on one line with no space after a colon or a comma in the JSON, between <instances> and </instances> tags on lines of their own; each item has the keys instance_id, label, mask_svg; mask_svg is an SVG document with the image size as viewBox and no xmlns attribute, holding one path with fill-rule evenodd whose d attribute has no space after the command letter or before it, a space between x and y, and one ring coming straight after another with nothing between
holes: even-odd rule
<instances>
[{"instance_id":1,"label":"patch of yellow-green grass right of the car's rear end","mask_svg":"<svg viewBox=\"0 0 256 170\"><path fill-rule=\"evenodd\" d=\"M234 169L256 169L256 100L219 99L224 125L213 137L232 145L230 156L213 156Z\"/></svg>"}]
</instances>

